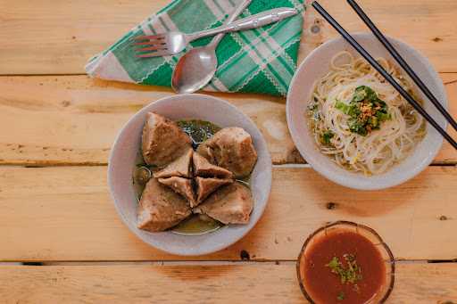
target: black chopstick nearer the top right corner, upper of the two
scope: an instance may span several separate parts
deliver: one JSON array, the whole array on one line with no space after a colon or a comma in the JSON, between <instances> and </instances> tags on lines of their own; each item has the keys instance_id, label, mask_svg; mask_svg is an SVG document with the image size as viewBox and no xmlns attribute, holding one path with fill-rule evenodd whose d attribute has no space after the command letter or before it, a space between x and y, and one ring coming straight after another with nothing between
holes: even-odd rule
<instances>
[{"instance_id":1,"label":"black chopstick nearer the top right corner, upper of the two","mask_svg":"<svg viewBox=\"0 0 457 304\"><path fill-rule=\"evenodd\" d=\"M361 17L361 20L365 22L367 27L370 28L373 35L378 38L379 42L386 47L387 51L392 55L392 57L394 57L395 61L398 62L398 64L403 68L403 70L411 77L412 81L414 81L414 83L420 88L420 91L422 91L422 93L428 97L430 102L432 102L435 105L436 109L440 111L441 114L443 114L443 116L445 117L445 119L451 124L451 126L453 126L455 130L457 130L457 122L453 119L451 114L449 114L449 112L445 110L445 107L440 102L438 102L435 95L430 92L428 87L422 82L422 80L420 80L420 78L414 72L414 70L411 69L411 66L404 61L402 55L395 50L394 45L392 45L386 39L386 37L376 27L373 21L371 21L367 14L363 12L359 4L357 4L354 0L347 0L347 3L351 5L353 10L357 12L359 17Z\"/></svg>"}]
</instances>

